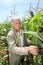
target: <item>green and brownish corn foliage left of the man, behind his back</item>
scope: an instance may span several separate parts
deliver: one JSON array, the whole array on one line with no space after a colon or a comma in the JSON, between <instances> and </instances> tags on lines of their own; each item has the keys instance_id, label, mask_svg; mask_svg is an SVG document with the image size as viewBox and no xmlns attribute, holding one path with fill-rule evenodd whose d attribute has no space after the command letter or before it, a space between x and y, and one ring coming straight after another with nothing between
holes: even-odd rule
<instances>
[{"instance_id":1,"label":"green and brownish corn foliage left of the man, behind his back","mask_svg":"<svg viewBox=\"0 0 43 65\"><path fill-rule=\"evenodd\" d=\"M8 43L7 33L11 29L11 24L6 20L0 24L0 65L8 65Z\"/></svg>"}]
</instances>

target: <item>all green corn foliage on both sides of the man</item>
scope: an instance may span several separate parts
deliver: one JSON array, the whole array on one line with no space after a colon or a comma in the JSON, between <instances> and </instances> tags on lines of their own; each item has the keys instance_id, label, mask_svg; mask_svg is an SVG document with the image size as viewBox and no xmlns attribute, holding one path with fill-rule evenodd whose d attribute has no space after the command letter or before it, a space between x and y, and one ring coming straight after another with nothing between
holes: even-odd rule
<instances>
[{"instance_id":1,"label":"all green corn foliage on both sides of the man","mask_svg":"<svg viewBox=\"0 0 43 65\"><path fill-rule=\"evenodd\" d=\"M43 65L43 9L34 15L31 11L31 17L22 19L21 28L24 30L26 38L32 41L32 45L39 47L39 55L29 55L23 65ZM3 50L7 50L8 44L6 41L7 33L11 30L11 24L6 20L0 24L0 65L8 65L6 54ZM4 58L5 57L5 58ZM4 59L3 59L4 58Z\"/></svg>"}]
</instances>

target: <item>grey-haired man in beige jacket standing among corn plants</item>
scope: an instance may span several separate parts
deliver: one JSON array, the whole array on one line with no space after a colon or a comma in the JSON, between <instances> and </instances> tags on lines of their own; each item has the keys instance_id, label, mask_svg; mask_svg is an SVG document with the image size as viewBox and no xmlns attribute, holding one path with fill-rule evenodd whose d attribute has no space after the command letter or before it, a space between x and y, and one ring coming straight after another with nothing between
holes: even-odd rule
<instances>
[{"instance_id":1,"label":"grey-haired man in beige jacket standing among corn plants","mask_svg":"<svg viewBox=\"0 0 43 65\"><path fill-rule=\"evenodd\" d=\"M19 59L19 56L28 55L28 53L38 55L38 47L25 46L24 36L23 34L19 35L20 32L20 19L14 17L12 19L12 30L7 35L10 65L16 65L15 62Z\"/></svg>"}]
</instances>

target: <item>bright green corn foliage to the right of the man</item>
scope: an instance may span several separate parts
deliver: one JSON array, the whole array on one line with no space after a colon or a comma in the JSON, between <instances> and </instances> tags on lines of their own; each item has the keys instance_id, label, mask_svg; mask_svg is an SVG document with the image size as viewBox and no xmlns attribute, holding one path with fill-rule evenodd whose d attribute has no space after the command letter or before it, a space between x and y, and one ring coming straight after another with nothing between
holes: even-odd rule
<instances>
[{"instance_id":1,"label":"bright green corn foliage to the right of the man","mask_svg":"<svg viewBox=\"0 0 43 65\"><path fill-rule=\"evenodd\" d=\"M31 56L33 59L31 64L43 65L43 9L34 16L31 14L30 19L25 18L22 20L21 28L24 30L25 36L32 41L32 45L37 45L39 47L39 55ZM28 57L30 61L31 57Z\"/></svg>"}]
</instances>

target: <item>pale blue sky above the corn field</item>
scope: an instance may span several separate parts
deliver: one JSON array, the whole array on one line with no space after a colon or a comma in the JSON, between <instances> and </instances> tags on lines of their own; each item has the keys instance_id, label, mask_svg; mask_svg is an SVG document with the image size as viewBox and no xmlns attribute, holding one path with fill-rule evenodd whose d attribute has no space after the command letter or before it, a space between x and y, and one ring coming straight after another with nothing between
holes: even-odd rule
<instances>
[{"instance_id":1,"label":"pale blue sky above the corn field","mask_svg":"<svg viewBox=\"0 0 43 65\"><path fill-rule=\"evenodd\" d=\"M17 15L21 18L25 12L29 10L30 2L32 7L36 7L38 0L0 0L0 23L6 20L11 15L11 11L17 12ZM40 0L40 8L43 8L43 0Z\"/></svg>"}]
</instances>

